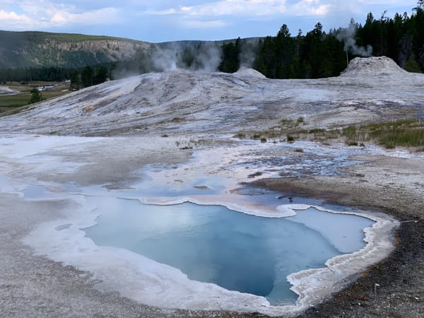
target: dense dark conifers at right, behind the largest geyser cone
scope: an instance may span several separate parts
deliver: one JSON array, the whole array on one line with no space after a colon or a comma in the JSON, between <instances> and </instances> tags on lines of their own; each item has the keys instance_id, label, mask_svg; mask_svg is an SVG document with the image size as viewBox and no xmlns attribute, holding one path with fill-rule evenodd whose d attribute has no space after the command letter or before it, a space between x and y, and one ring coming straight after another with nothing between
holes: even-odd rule
<instances>
[{"instance_id":1,"label":"dense dark conifers at right, behind the largest geyser cone","mask_svg":"<svg viewBox=\"0 0 424 318\"><path fill-rule=\"evenodd\" d=\"M351 20L348 28L325 33L321 23L295 37L283 25L275 37L259 43L254 69L268 78L321 78L338 76L347 61L360 56L387 56L407 71L424 71L424 0L413 14L396 13L379 19L368 13L364 25Z\"/></svg>"}]
</instances>

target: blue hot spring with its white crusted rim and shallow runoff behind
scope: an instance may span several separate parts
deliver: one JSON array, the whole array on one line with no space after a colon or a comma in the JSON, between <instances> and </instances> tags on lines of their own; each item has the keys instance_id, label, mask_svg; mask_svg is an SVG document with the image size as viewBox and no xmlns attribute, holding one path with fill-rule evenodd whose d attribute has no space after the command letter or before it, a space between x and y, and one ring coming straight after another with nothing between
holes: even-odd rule
<instances>
[{"instance_id":1,"label":"blue hot spring with its white crusted rim and shallow runoff behind","mask_svg":"<svg viewBox=\"0 0 424 318\"><path fill-rule=\"evenodd\" d=\"M37 254L87 271L99 290L159 308L300 312L391 251L397 223L382 213L245 183L252 175L278 177L286 164L300 165L299 177L336 173L337 160L324 150L317 151L327 165L310 165L312 155L300 163L272 155L269 162L253 160L252 149L264 147L266 155L271 145L246 143L239 151L206 148L179 165L146 165L128 182L0 177L0 187L64 204L59 218L24 238Z\"/></svg>"}]
</instances>

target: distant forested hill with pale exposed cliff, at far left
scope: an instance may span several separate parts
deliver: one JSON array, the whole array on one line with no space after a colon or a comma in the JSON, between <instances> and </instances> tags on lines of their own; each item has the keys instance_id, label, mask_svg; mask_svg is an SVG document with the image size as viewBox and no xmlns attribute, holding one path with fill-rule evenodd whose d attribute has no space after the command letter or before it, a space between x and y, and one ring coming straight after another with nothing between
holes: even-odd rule
<instances>
[{"instance_id":1,"label":"distant forested hill with pale exposed cliff, at far left","mask_svg":"<svg viewBox=\"0 0 424 318\"><path fill-rule=\"evenodd\" d=\"M132 58L150 46L119 37L0 31L0 69L110 63Z\"/></svg>"}]
</instances>

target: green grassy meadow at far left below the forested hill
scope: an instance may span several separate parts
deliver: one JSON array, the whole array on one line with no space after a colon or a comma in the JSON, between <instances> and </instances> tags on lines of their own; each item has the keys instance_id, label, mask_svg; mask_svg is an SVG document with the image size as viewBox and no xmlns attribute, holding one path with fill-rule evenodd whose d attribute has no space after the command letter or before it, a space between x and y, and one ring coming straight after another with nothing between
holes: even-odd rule
<instances>
[{"instance_id":1,"label":"green grassy meadow at far left below the forested hill","mask_svg":"<svg viewBox=\"0 0 424 318\"><path fill-rule=\"evenodd\" d=\"M18 91L20 93L15 95L0 95L0 116L8 114L9 112L16 112L20 107L28 105L31 98L30 91L37 86L51 86L54 88L49 90L43 90L42 96L46 99L55 98L57 96L65 95L69 93L69 83L52 83L52 82L30 82L28 84L8 82L6 86L11 90Z\"/></svg>"}]
</instances>

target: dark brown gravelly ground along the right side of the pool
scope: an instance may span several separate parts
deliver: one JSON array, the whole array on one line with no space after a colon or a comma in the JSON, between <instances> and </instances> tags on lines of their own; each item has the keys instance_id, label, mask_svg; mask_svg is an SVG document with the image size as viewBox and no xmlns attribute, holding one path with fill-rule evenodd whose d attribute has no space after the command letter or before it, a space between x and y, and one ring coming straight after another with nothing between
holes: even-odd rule
<instances>
[{"instance_id":1,"label":"dark brown gravelly ground along the right side of the pool","mask_svg":"<svg viewBox=\"0 0 424 318\"><path fill-rule=\"evenodd\" d=\"M265 182L271 189L292 195L313 196L358 208L372 206L401 220L400 228L394 232L396 249L387 259L370 266L341 293L302 317L421 317L424 187L419 179L424 177L423 162L379 157L346 172L353 170L362 172L363 177L320 177L313 180L315 187L301 179ZM264 183L258 185L263 187Z\"/></svg>"}]
</instances>

